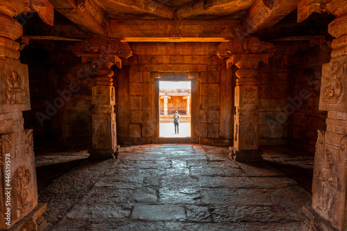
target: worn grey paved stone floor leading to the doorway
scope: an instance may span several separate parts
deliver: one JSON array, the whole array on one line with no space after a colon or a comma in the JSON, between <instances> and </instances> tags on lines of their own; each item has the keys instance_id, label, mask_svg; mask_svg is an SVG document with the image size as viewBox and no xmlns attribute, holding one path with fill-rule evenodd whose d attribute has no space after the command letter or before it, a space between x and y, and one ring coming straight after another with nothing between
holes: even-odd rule
<instances>
[{"instance_id":1,"label":"worn grey paved stone floor leading to the doorway","mask_svg":"<svg viewBox=\"0 0 347 231\"><path fill-rule=\"evenodd\" d=\"M302 230L310 193L266 162L190 144L121 148L40 191L46 230Z\"/></svg>"}]
</instances>

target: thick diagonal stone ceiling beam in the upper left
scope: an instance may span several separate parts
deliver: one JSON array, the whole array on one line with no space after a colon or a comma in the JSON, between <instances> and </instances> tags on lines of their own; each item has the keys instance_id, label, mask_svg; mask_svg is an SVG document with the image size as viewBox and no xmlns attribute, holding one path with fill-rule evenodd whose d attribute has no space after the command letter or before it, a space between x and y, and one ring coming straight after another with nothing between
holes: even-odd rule
<instances>
[{"instance_id":1,"label":"thick diagonal stone ceiling beam in the upper left","mask_svg":"<svg viewBox=\"0 0 347 231\"><path fill-rule=\"evenodd\" d=\"M92 0L50 0L54 8L89 35L107 36L110 20Z\"/></svg>"}]
</instances>

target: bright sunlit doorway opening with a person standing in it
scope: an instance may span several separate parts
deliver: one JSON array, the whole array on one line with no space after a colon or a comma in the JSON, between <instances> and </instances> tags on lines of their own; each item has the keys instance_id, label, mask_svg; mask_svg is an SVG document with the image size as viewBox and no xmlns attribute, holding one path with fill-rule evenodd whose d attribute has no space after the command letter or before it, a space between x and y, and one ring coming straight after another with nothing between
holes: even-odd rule
<instances>
[{"instance_id":1,"label":"bright sunlit doorway opening with a person standing in it","mask_svg":"<svg viewBox=\"0 0 347 231\"><path fill-rule=\"evenodd\" d=\"M191 99L191 81L159 82L160 137L191 136Z\"/></svg>"}]
</instances>

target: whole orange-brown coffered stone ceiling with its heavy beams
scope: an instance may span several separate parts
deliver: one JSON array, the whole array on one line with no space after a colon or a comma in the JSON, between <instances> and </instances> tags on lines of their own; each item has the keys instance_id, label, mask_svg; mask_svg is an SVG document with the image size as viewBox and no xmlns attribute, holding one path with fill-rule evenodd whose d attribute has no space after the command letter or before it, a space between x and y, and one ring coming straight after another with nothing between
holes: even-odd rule
<instances>
[{"instance_id":1,"label":"whole orange-brown coffered stone ceiling with its heavy beams","mask_svg":"<svg viewBox=\"0 0 347 231\"><path fill-rule=\"evenodd\" d=\"M49 0L87 36L126 42L228 42L265 35L296 10L299 0ZM58 15L57 14L57 15ZM64 21L64 20L61 20ZM59 25L59 17L51 31ZM307 23L307 22L305 22ZM276 28L276 27L275 27ZM33 30L37 31L37 30ZM29 32L49 38L49 33ZM51 32L51 33L59 33ZM276 33L276 31L271 31ZM64 33L63 33L64 34ZM300 35L293 35L300 36ZM59 37L59 36L58 36ZM60 36L61 37L61 36ZM59 39L59 38L58 38ZM300 38L299 38L300 39Z\"/></svg>"}]
</instances>

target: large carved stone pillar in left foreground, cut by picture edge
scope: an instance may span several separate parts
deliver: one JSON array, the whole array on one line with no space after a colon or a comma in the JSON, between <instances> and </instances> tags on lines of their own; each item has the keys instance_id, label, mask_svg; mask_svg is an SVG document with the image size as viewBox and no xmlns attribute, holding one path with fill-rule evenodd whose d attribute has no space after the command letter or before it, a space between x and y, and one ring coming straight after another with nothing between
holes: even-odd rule
<instances>
[{"instance_id":1,"label":"large carved stone pillar in left foreground, cut by picture edge","mask_svg":"<svg viewBox=\"0 0 347 231\"><path fill-rule=\"evenodd\" d=\"M46 4L45 19L53 24L53 6ZM13 19L41 10L35 8L31 1L0 1L0 230L43 230L46 225L46 205L37 203L33 130L23 126L22 112L31 110L28 67L20 63L15 42L23 28Z\"/></svg>"}]
</instances>

